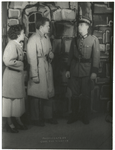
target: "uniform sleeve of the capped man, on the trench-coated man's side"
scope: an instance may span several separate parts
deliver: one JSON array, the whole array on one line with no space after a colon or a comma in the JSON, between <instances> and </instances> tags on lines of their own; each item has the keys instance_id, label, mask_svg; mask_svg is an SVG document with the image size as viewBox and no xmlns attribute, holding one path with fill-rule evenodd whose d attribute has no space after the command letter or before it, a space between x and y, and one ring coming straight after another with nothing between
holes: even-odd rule
<instances>
[{"instance_id":1,"label":"uniform sleeve of the capped man, on the trench-coated man's side","mask_svg":"<svg viewBox=\"0 0 115 150\"><path fill-rule=\"evenodd\" d=\"M73 59L74 56L74 39L71 42L71 46L70 46L70 51L69 51L69 56L68 56L68 63L67 63L67 71L70 70L70 66L71 66L71 61Z\"/></svg>"}]
</instances>

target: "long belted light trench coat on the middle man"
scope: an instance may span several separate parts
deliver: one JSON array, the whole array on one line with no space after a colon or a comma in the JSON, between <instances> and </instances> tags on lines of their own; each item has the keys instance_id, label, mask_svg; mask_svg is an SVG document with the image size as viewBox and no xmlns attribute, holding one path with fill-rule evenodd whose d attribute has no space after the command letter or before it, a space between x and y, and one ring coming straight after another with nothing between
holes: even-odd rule
<instances>
[{"instance_id":1,"label":"long belted light trench coat on the middle man","mask_svg":"<svg viewBox=\"0 0 115 150\"><path fill-rule=\"evenodd\" d=\"M51 63L46 55L52 50L48 36L40 31L34 33L27 44L27 59L30 64L28 95L49 99L54 96L53 74ZM39 77L40 82L34 83L32 77Z\"/></svg>"}]
</instances>

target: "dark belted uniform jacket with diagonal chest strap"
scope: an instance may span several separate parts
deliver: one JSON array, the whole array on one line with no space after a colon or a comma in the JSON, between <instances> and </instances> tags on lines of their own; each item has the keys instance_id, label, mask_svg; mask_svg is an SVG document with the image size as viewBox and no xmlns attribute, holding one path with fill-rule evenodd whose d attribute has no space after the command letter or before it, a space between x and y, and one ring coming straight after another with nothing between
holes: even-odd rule
<instances>
[{"instance_id":1,"label":"dark belted uniform jacket with diagonal chest strap","mask_svg":"<svg viewBox=\"0 0 115 150\"><path fill-rule=\"evenodd\" d=\"M98 72L100 61L99 41L93 35L74 38L71 44L68 69L71 76L84 77Z\"/></svg>"}]
</instances>

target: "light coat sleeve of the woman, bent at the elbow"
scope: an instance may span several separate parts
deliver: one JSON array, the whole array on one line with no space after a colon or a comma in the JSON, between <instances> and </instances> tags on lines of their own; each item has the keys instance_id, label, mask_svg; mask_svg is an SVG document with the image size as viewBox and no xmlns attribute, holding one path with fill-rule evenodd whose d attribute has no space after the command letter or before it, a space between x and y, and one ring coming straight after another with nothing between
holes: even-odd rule
<instances>
[{"instance_id":1,"label":"light coat sleeve of the woman, bent at the elbow","mask_svg":"<svg viewBox=\"0 0 115 150\"><path fill-rule=\"evenodd\" d=\"M22 61L17 60L18 54L16 51L16 46L14 43L8 43L4 50L3 62L7 67L12 69L22 71L24 69L24 64Z\"/></svg>"}]
</instances>

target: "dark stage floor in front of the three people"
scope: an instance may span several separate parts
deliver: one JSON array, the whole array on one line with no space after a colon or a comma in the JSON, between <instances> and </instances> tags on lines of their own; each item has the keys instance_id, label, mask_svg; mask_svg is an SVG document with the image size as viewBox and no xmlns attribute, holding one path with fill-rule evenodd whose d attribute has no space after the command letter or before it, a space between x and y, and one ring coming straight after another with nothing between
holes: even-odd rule
<instances>
[{"instance_id":1,"label":"dark stage floor in front of the three people","mask_svg":"<svg viewBox=\"0 0 115 150\"><path fill-rule=\"evenodd\" d=\"M18 134L3 132L3 149L112 149L112 124L105 121L106 113L92 113L90 124L81 121L67 124L66 117L57 125L28 126Z\"/></svg>"}]
</instances>

